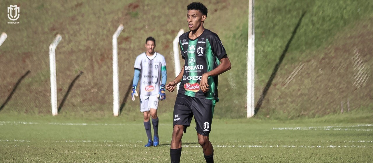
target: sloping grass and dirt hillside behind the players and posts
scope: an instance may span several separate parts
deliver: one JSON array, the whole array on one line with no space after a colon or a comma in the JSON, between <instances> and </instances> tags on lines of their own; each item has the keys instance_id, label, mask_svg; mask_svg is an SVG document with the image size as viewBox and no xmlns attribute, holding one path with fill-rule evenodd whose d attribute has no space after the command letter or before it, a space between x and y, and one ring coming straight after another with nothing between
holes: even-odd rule
<instances>
[{"instance_id":1,"label":"sloping grass and dirt hillside behind the players and posts","mask_svg":"<svg viewBox=\"0 0 373 163\"><path fill-rule=\"evenodd\" d=\"M118 38L120 97L123 113L138 116L138 101L125 98L135 57L144 51L144 39L155 37L156 51L166 57L168 80L172 80L172 40L179 29L187 30L185 14L190 2L5 0L1 8L18 4L21 16L20 24L10 25L6 12L0 12L0 32L9 36L0 47L0 102L27 70L31 73L0 112L50 114L48 46L61 34L56 50L59 104L75 76L84 73L73 85L60 115L112 115L111 38L122 23L125 29ZM221 102L214 117L245 117L248 4L239 0L203 3L209 9L205 27L219 35L233 65L219 77ZM257 117L322 116L338 112L341 101L345 106L347 99L351 109L371 110L372 7L368 0L256 1L256 101L274 76ZM289 48L283 53L286 44ZM366 65L364 70L358 69L367 74L360 87L353 85L357 72L351 58L357 51ZM284 57L279 62L281 54ZM274 71L276 63L280 63L279 69ZM291 76L293 71L295 76ZM160 114L172 110L175 97L175 93L167 94Z\"/></svg>"}]
</instances>

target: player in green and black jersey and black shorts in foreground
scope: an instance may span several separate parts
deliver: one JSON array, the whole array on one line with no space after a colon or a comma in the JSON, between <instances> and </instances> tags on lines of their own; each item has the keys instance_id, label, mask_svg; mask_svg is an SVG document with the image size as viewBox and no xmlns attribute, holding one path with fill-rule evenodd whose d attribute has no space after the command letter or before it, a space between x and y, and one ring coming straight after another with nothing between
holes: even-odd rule
<instances>
[{"instance_id":1,"label":"player in green and black jersey and black shorts in foreground","mask_svg":"<svg viewBox=\"0 0 373 163\"><path fill-rule=\"evenodd\" d=\"M172 163L179 163L181 138L194 116L198 143L207 163L213 163L214 150L209 141L211 122L217 96L218 75L231 69L225 48L219 37L205 29L207 8L202 3L187 6L189 32L179 37L181 56L185 60L180 74L166 85L173 92L181 82L173 108L173 132L170 148Z\"/></svg>"}]
</instances>

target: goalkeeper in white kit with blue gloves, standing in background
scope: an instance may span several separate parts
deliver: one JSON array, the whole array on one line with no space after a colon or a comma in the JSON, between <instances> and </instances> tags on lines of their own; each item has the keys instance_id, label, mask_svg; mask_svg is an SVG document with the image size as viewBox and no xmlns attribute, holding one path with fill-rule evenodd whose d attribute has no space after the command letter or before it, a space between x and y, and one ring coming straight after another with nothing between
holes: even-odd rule
<instances>
[{"instance_id":1,"label":"goalkeeper in white kit with blue gloves, standing in background","mask_svg":"<svg viewBox=\"0 0 373 163\"><path fill-rule=\"evenodd\" d=\"M145 147L158 146L158 116L157 109L159 100L166 99L164 85L167 80L166 60L164 57L155 52L156 40L153 37L148 37L145 41L144 53L141 53L135 60L135 73L132 86L132 101L135 101L135 96L138 96L136 87L140 80L140 112L144 114L144 126L148 137L148 144ZM161 78L162 76L162 78ZM151 122L154 129L154 142L151 138Z\"/></svg>"}]
</instances>

